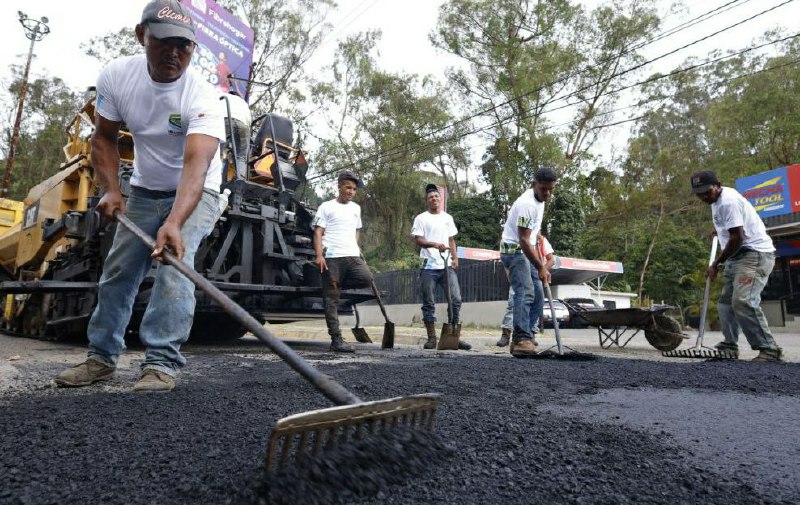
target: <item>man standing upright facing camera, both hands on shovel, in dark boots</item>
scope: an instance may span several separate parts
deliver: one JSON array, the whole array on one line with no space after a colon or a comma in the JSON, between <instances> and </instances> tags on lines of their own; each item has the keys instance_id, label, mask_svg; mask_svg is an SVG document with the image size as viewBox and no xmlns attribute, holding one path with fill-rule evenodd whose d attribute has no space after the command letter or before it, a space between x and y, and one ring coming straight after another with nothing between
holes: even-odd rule
<instances>
[{"instance_id":1,"label":"man standing upright facing camera, both hands on shovel, in dark boots","mask_svg":"<svg viewBox=\"0 0 800 505\"><path fill-rule=\"evenodd\" d=\"M420 247L420 289L422 291L422 322L428 340L423 347L436 349L436 287L446 289L450 284L452 314L450 317L458 338L458 348L470 350L472 346L461 341L461 290L458 286L458 255L456 235L458 229L453 216L442 210L442 195L436 184L425 186L425 204L428 210L414 218L411 236Z\"/></svg>"}]
</instances>

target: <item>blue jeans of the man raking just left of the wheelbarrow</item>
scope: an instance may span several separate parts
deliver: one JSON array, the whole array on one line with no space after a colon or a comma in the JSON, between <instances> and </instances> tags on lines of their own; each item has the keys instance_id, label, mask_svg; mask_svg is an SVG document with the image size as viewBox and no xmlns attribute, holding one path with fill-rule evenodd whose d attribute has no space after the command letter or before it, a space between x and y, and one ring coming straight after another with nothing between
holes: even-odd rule
<instances>
[{"instance_id":1,"label":"blue jeans of the man raking just left of the wheelbarrow","mask_svg":"<svg viewBox=\"0 0 800 505\"><path fill-rule=\"evenodd\" d=\"M500 261L508 270L508 280L514 290L513 338L515 341L530 339L531 329L544 307L544 289L539 273L531 268L531 262L522 251L501 254Z\"/></svg>"}]
</instances>

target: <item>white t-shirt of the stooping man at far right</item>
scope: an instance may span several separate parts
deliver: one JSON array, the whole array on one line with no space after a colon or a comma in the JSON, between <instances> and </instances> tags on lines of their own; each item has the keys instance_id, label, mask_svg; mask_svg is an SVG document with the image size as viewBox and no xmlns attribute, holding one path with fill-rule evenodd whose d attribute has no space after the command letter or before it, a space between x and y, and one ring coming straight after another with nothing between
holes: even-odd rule
<instances>
[{"instance_id":1,"label":"white t-shirt of the stooping man at far right","mask_svg":"<svg viewBox=\"0 0 800 505\"><path fill-rule=\"evenodd\" d=\"M735 189L722 187L719 199L711 204L711 218L723 249L731 238L728 230L741 226L744 231L742 247L758 252L775 251L772 239L767 235L767 229L756 209Z\"/></svg>"}]
</instances>

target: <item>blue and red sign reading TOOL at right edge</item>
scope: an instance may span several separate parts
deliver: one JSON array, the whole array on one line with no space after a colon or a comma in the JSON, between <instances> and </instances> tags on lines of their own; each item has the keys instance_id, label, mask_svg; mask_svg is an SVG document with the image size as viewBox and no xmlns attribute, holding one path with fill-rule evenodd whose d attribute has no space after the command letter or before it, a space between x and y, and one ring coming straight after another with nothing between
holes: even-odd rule
<instances>
[{"instance_id":1,"label":"blue and red sign reading TOOL at right edge","mask_svg":"<svg viewBox=\"0 0 800 505\"><path fill-rule=\"evenodd\" d=\"M747 198L762 219L797 212L800 210L800 165L736 179L736 190Z\"/></svg>"}]
</instances>

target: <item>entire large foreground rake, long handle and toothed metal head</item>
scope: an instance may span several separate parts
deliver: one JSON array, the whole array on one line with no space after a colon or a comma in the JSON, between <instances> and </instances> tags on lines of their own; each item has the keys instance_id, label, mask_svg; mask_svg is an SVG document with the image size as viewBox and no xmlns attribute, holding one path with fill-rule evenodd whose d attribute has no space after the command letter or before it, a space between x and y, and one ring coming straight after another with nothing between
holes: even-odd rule
<instances>
[{"instance_id":1,"label":"entire large foreground rake, long handle and toothed metal head","mask_svg":"<svg viewBox=\"0 0 800 505\"><path fill-rule=\"evenodd\" d=\"M155 249L155 240L127 216L119 211L115 211L114 216L125 229L136 235L148 247ZM163 258L165 263L189 278L225 312L337 405L279 419L267 444L265 466L268 473L273 472L279 465L286 465L291 461L298 462L310 455L336 448L339 444L359 440L370 434L400 427L432 429L441 395L426 393L365 402L311 366L211 281L195 272L175 255L165 250Z\"/></svg>"}]
</instances>

